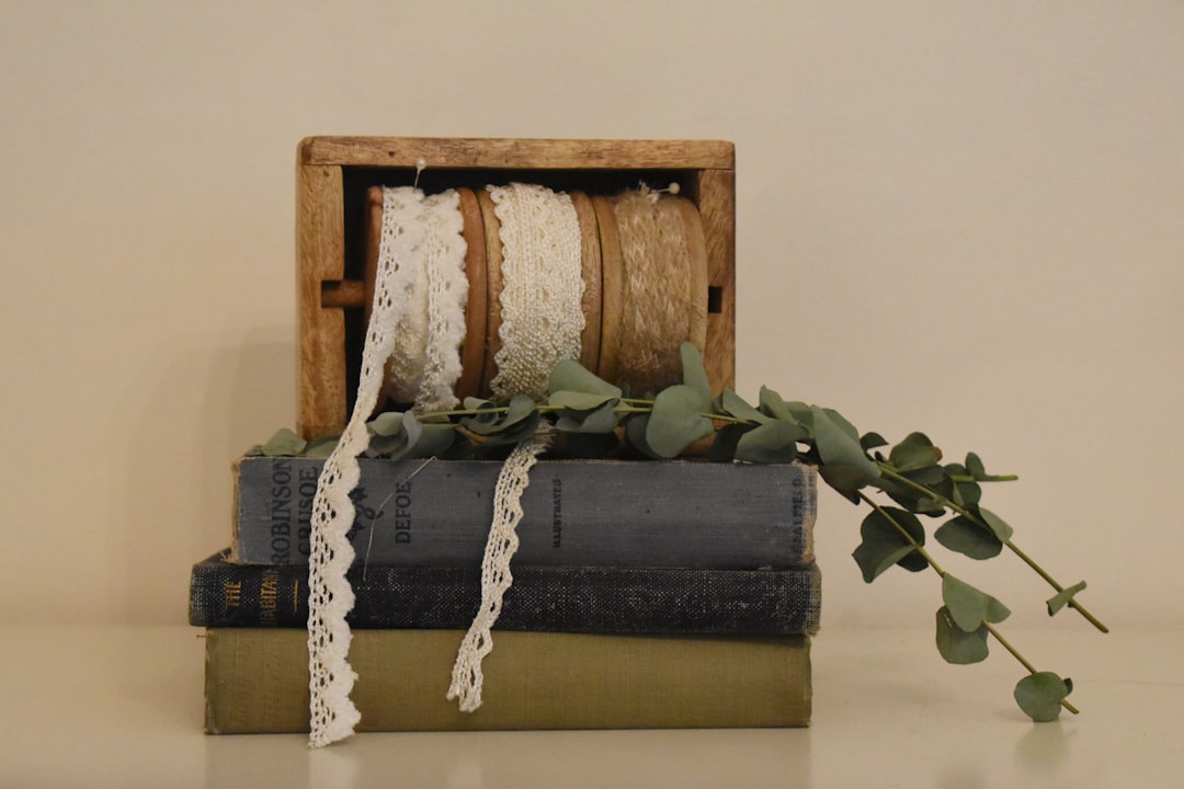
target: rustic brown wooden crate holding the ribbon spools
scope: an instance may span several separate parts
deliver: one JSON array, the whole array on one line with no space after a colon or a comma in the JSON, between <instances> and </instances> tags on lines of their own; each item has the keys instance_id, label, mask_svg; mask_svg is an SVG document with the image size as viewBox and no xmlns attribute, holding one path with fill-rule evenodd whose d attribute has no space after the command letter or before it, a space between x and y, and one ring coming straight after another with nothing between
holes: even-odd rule
<instances>
[{"instance_id":1,"label":"rustic brown wooden crate holding the ribbon spools","mask_svg":"<svg viewBox=\"0 0 1184 789\"><path fill-rule=\"evenodd\" d=\"M367 192L416 181L425 192L523 181L613 195L677 181L703 225L704 362L715 390L735 379L735 155L728 142L309 137L296 163L297 428L340 432L358 389L365 335Z\"/></svg>"}]
</instances>

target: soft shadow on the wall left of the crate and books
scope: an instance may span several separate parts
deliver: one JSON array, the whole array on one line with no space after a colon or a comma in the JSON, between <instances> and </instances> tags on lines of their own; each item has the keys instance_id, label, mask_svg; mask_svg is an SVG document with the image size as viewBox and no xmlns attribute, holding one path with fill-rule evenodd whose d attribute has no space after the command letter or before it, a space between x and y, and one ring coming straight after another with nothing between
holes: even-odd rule
<instances>
[{"instance_id":1,"label":"soft shadow on the wall left of the crate and books","mask_svg":"<svg viewBox=\"0 0 1184 789\"><path fill-rule=\"evenodd\" d=\"M230 544L231 464L295 423L296 337L290 326L194 335L129 383L121 549L110 596L120 621L187 622L191 565ZM163 361L162 361L163 360Z\"/></svg>"}]
</instances>

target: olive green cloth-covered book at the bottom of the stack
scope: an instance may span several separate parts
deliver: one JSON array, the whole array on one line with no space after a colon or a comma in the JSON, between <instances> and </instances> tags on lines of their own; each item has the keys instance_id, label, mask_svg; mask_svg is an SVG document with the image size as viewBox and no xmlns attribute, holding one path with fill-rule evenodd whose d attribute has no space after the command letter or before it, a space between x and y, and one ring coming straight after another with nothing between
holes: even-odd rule
<instances>
[{"instance_id":1,"label":"olive green cloth-covered book at the bottom of the stack","mask_svg":"<svg viewBox=\"0 0 1184 789\"><path fill-rule=\"evenodd\" d=\"M504 630L483 704L445 696L463 630L355 630L358 731L725 729L810 723L810 638ZM207 733L309 730L308 634L206 630Z\"/></svg>"}]
</instances>

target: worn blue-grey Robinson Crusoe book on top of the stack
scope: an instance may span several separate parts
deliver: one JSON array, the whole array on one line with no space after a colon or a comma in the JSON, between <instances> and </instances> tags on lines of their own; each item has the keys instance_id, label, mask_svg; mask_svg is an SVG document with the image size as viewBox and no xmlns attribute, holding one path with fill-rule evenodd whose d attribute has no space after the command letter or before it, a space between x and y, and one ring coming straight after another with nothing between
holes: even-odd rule
<instances>
[{"instance_id":1,"label":"worn blue-grey Robinson Crusoe book on top of the stack","mask_svg":"<svg viewBox=\"0 0 1184 789\"><path fill-rule=\"evenodd\" d=\"M234 464L232 561L307 564L323 461ZM362 459L356 563L480 563L502 464ZM515 561L760 569L813 561L816 473L804 464L541 460L522 494Z\"/></svg>"}]
</instances>

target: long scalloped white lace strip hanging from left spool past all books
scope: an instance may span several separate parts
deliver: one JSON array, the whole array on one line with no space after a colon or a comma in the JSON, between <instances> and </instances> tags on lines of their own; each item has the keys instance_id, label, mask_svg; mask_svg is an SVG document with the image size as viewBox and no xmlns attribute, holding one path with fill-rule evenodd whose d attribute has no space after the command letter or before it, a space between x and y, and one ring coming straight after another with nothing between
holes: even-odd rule
<instances>
[{"instance_id":1,"label":"long scalloped white lace strip hanging from left spool past all books","mask_svg":"<svg viewBox=\"0 0 1184 789\"><path fill-rule=\"evenodd\" d=\"M346 537L354 520L349 493L360 476L358 455L369 446L366 420L378 403L386 363L403 339L412 297L425 277L424 195L403 187L384 192L382 228L374 304L366 330L358 397L349 422L324 461L313 499L309 555L309 744L316 748L349 737L360 719L349 699L356 673L347 659L350 632L346 615L354 594L346 571L354 549ZM458 212L458 209L457 209ZM459 221L459 220L458 220ZM463 251L462 251L463 256Z\"/></svg>"}]
</instances>

